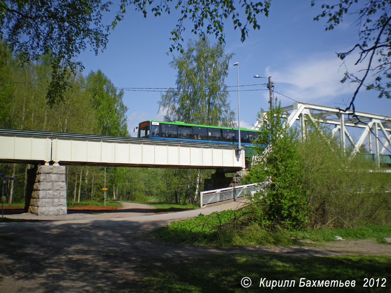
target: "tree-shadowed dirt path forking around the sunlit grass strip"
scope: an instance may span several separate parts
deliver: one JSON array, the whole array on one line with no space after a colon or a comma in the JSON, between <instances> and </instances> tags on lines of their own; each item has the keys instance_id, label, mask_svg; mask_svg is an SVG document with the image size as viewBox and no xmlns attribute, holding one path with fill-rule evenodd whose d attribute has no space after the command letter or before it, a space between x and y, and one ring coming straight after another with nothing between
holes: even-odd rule
<instances>
[{"instance_id":1,"label":"tree-shadowed dirt path forking around the sunlit grass strip","mask_svg":"<svg viewBox=\"0 0 391 293\"><path fill-rule=\"evenodd\" d=\"M391 255L390 245L374 240L333 242L325 247L215 249L170 245L148 234L178 219L238 205L156 214L151 206L126 204L117 211L79 218L69 214L51 222L1 223L0 292L140 292L148 268L203 261L217 253Z\"/></svg>"}]
</instances>

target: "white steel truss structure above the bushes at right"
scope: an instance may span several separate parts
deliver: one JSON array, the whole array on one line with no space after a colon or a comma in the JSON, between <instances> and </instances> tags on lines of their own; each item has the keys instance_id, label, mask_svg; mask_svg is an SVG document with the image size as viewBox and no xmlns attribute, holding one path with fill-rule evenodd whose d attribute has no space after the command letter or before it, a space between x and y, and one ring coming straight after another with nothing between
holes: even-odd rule
<instances>
[{"instance_id":1,"label":"white steel truss structure above the bushes at right","mask_svg":"<svg viewBox=\"0 0 391 293\"><path fill-rule=\"evenodd\" d=\"M385 159L390 159L391 116L356 111L353 117L353 111L344 112L336 107L302 102L295 102L293 105L283 107L282 111L289 127L292 127L295 122L300 123L302 140L305 139L307 132L307 121L311 121L315 125L328 124L334 126L332 134L339 135L341 150L344 153L347 143L353 146L349 154L350 159L360 152L360 147L363 145L368 147L369 153L374 154L377 167L380 167L382 156L388 155L388 158L385 157ZM253 128L259 129L260 126L260 121L257 121ZM355 140L350 135L347 127L360 130L358 139Z\"/></svg>"}]
</instances>

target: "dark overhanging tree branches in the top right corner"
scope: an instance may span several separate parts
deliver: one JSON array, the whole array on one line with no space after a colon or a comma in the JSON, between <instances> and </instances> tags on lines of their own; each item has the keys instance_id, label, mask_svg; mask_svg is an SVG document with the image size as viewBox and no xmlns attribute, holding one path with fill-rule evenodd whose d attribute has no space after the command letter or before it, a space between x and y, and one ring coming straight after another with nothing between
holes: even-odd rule
<instances>
[{"instance_id":1,"label":"dark overhanging tree branches in the top right corner","mask_svg":"<svg viewBox=\"0 0 391 293\"><path fill-rule=\"evenodd\" d=\"M355 65L367 62L361 77L345 73L342 83L347 81L357 83L349 106L345 109L355 110L354 100L362 86L367 90L379 91L379 98L391 98L391 2L390 0L366 0L364 4L358 0L339 0L337 4L323 4L322 13L314 18L326 18L326 31L333 30L342 21L345 15L356 14L356 23L359 28L359 42L347 52L337 53L341 60L353 53L358 53ZM311 0L315 5L315 0ZM361 71L361 70L360 70ZM368 81L369 75L374 81ZM368 84L365 84L368 82Z\"/></svg>"}]
</instances>

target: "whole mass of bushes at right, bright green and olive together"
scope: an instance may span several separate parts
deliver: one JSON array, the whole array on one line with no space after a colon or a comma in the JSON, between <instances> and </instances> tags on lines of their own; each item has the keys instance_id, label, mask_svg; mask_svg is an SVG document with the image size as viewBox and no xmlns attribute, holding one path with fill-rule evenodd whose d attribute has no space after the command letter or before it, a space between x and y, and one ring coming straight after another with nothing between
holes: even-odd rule
<instances>
[{"instance_id":1,"label":"whole mass of bushes at right, bright green and olive together","mask_svg":"<svg viewBox=\"0 0 391 293\"><path fill-rule=\"evenodd\" d=\"M250 205L253 221L267 229L391 223L387 173L369 173L375 166L364 158L349 160L328 128L307 121L302 142L278 118L279 107L262 115L268 123L264 121L265 132L257 142L258 158L243 180L269 182Z\"/></svg>"}]
</instances>

